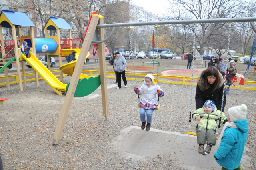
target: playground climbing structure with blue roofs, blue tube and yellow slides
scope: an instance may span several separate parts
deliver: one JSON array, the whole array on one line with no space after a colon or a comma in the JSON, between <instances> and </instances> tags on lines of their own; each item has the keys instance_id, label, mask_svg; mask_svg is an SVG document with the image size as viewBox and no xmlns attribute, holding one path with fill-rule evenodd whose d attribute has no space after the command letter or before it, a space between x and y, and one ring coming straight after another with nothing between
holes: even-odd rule
<instances>
[{"instance_id":1,"label":"playground climbing structure with blue roofs, blue tube and yellow slides","mask_svg":"<svg viewBox=\"0 0 256 170\"><path fill-rule=\"evenodd\" d=\"M22 21L22 22L21 22ZM0 68L0 72L4 70L6 77L6 86L7 90L10 90L10 83L8 80L8 72L7 66L16 61L17 66L17 74L18 74L18 85L20 91L23 91L22 86L22 78L20 73L20 62L22 65L22 73L23 73L23 82L24 87L27 87L26 83L26 73L24 61L28 62L32 68L35 70L35 79L36 79L36 87L39 88L38 82L38 74L44 78L44 80L51 86L51 88L59 95L62 95L62 92L66 92L66 84L63 84L63 73L72 76L75 63L68 63L62 65L61 57L66 57L72 51L76 51L76 58L79 57L80 54L80 46L82 41L80 39L72 39L71 38L71 27L68 23L62 18L50 17L48 22L44 27L46 38L34 38L34 24L30 21L30 19L24 13L13 12L8 10L2 10L0 15L0 42L1 42L1 52L2 58L0 58L0 62L4 66ZM21 26L30 26L31 35L21 36ZM12 34L16 35L15 27L18 30L18 38L13 36L13 40L4 40L2 34L2 27L12 28ZM60 29L69 30L69 38L68 39L60 39ZM48 30L55 30L57 32L57 36L48 36ZM22 45L23 41L26 40L30 57L26 58L24 54L20 52L19 46ZM19 44L19 45L18 45ZM76 44L76 45L74 45ZM80 45L78 45L80 44ZM58 80L51 72L50 72L50 62L47 63L48 69L36 58L36 53L46 53L47 57L58 57L60 58L60 80ZM16 54L16 55L15 55ZM17 55L18 54L18 55ZM90 54L87 53L86 58ZM63 73L62 73L63 72ZM81 74L80 79L89 78L90 76L86 76L85 74ZM59 92L60 91L60 92Z\"/></svg>"}]
</instances>

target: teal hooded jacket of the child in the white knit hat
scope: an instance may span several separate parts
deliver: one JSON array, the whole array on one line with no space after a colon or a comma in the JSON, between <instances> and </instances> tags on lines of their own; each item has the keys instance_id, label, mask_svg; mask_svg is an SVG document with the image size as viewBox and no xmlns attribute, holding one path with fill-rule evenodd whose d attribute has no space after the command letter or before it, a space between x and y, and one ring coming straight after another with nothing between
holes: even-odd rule
<instances>
[{"instance_id":1,"label":"teal hooded jacket of the child in the white knit hat","mask_svg":"<svg viewBox=\"0 0 256 170\"><path fill-rule=\"evenodd\" d=\"M224 131L220 147L214 154L218 164L228 170L233 170L240 166L248 131L247 119L238 120L234 123L239 129L227 128Z\"/></svg>"}]
</instances>

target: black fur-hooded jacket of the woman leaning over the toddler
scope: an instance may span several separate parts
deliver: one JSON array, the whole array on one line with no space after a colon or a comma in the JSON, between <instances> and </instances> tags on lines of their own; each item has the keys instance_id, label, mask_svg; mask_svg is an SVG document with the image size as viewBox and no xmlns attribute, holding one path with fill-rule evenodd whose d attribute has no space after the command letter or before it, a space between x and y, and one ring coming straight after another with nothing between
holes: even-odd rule
<instances>
[{"instance_id":1,"label":"black fur-hooded jacket of the woman leaning over the toddler","mask_svg":"<svg viewBox=\"0 0 256 170\"><path fill-rule=\"evenodd\" d=\"M202 77L204 71L198 77L197 85L196 85L196 109L202 108L204 106L204 102L208 99L213 100L217 107L217 110L221 110L221 103L222 103L222 94L223 94L223 84L224 80L221 79L220 84L218 85L217 89L213 91L213 85L210 85L208 89L205 87L205 79ZM220 74L220 72L219 72ZM222 77L222 75L220 74ZM226 92L224 92L224 100L223 100L223 109L226 105Z\"/></svg>"}]
</instances>

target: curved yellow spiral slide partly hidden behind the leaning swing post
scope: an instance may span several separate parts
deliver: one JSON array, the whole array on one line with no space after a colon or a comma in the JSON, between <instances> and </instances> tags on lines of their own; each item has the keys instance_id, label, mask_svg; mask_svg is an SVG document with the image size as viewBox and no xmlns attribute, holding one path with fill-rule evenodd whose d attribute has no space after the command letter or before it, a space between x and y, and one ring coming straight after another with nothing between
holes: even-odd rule
<instances>
[{"instance_id":1,"label":"curved yellow spiral slide partly hidden behind the leaning swing post","mask_svg":"<svg viewBox=\"0 0 256 170\"><path fill-rule=\"evenodd\" d=\"M76 51L76 59L78 59L78 56L80 54L80 50L81 49L64 49L64 50L61 50L61 51L62 51L62 56L68 56L70 53L72 53L72 51ZM89 52L87 52L86 59L88 58L88 56L90 56ZM60 70L62 70L62 72L64 72L65 74L68 74L68 75L72 76L73 72L74 72L74 68L76 66L76 62L77 62L77 60L62 65L62 66L60 66ZM89 78L89 77L90 76L87 76L86 74L81 73L79 80L81 80L82 78Z\"/></svg>"}]
</instances>

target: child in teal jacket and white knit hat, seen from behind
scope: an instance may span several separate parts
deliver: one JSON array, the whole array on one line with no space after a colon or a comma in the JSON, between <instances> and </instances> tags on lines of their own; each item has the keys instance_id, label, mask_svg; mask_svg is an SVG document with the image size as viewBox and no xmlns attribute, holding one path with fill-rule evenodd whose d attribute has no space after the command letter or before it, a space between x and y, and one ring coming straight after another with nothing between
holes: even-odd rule
<instances>
[{"instance_id":1,"label":"child in teal jacket and white knit hat, seen from behind","mask_svg":"<svg viewBox=\"0 0 256 170\"><path fill-rule=\"evenodd\" d=\"M246 119L247 106L242 104L228 109L228 122L220 134L215 160L222 170L241 170L240 162L247 138L248 122Z\"/></svg>"}]
</instances>

